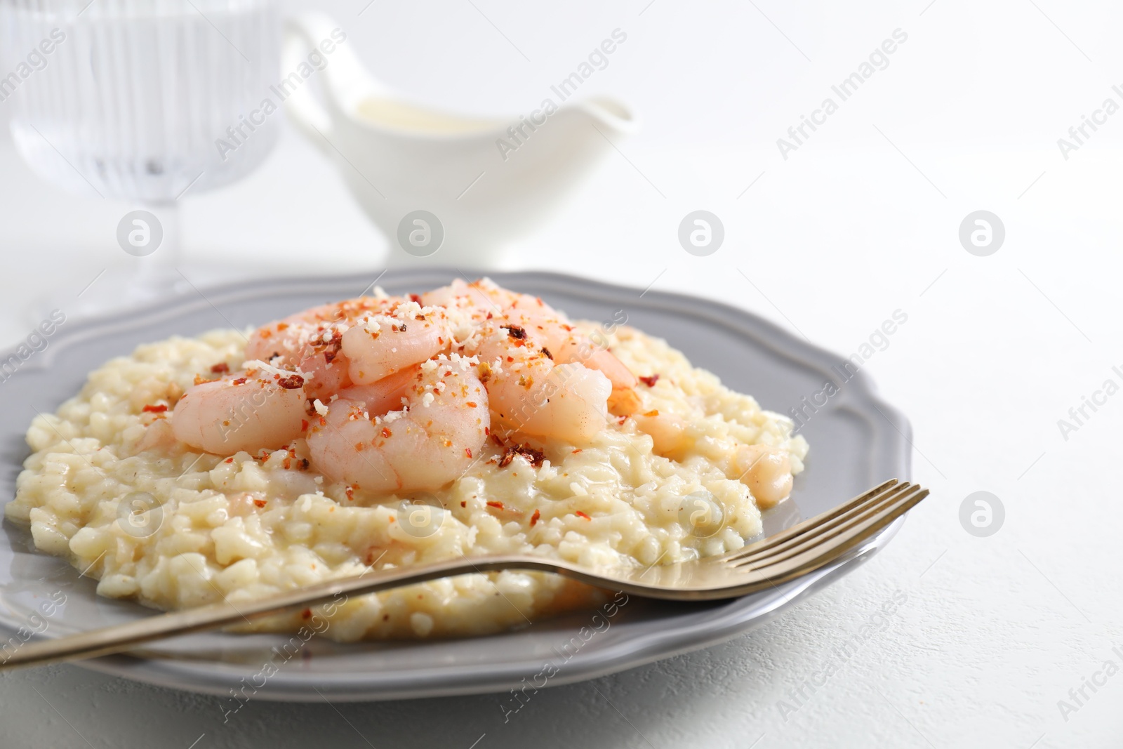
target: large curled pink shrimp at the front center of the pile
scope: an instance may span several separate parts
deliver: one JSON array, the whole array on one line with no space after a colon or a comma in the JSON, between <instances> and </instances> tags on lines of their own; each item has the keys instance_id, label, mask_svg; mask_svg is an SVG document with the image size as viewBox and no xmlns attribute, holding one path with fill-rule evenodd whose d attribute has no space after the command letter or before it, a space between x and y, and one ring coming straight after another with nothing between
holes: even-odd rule
<instances>
[{"instance_id":1,"label":"large curled pink shrimp at the front center of the pile","mask_svg":"<svg viewBox=\"0 0 1123 749\"><path fill-rule=\"evenodd\" d=\"M365 491L440 488L468 469L487 438L487 391L476 362L456 354L338 395L309 429L309 456L332 481ZM378 412L402 396L404 408Z\"/></svg>"}]
</instances>

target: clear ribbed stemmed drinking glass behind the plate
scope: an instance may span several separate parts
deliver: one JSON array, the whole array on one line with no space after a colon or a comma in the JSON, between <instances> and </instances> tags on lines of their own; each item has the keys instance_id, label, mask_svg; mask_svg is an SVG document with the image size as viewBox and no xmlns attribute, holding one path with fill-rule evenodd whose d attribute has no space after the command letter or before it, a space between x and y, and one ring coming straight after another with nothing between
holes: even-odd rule
<instances>
[{"instance_id":1,"label":"clear ribbed stemmed drinking glass behind the plate","mask_svg":"<svg viewBox=\"0 0 1123 749\"><path fill-rule=\"evenodd\" d=\"M282 115L262 108L280 71L274 1L0 0L0 102L31 170L143 209L117 231L131 278L88 307L166 293L182 280L180 200L276 141Z\"/></svg>"}]
</instances>

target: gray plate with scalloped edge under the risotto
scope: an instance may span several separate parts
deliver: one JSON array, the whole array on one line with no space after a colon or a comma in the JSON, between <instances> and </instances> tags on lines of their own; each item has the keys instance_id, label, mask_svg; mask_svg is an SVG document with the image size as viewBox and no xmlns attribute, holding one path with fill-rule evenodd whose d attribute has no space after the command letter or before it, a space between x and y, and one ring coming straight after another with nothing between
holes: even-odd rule
<instances>
[{"instance_id":1,"label":"gray plate with scalloped edge under the risotto","mask_svg":"<svg viewBox=\"0 0 1123 749\"><path fill-rule=\"evenodd\" d=\"M446 270L387 273L391 293L448 283ZM811 346L748 312L715 302L613 286L553 273L493 273L501 285L538 294L572 317L628 323L666 338L697 366L716 373L734 390L752 393L764 408L786 412L803 396L839 382L831 369L841 357ZM158 305L100 320L66 322L49 346L30 356L0 383L0 496L12 496L28 455L24 432L36 412L54 411L77 392L86 373L137 344L174 334L259 325L329 300L354 296L363 278L276 280L191 292ZM3 355L7 358L7 354ZM811 442L807 469L793 499L766 515L772 533L801 517L823 512L885 478L909 477L910 427L880 401L858 374L803 429ZM94 670L163 686L228 696L231 688L264 700L338 701L501 692L536 676L549 661L550 684L593 678L728 639L767 621L794 601L820 590L868 559L896 532L897 521L843 561L768 593L701 604L631 599L611 618L594 612L538 622L524 629L464 640L337 645L312 639L291 659L271 648L281 636L204 633L152 646L138 656L110 656L82 664ZM0 536L0 646L58 592L65 604L33 629L44 637L131 621L152 612L137 604L100 599L94 583L66 563L35 551L30 535L4 522ZM579 637L586 628L585 638ZM588 634L588 632L593 632ZM26 636L25 636L26 637ZM298 640L299 641L299 640ZM290 650L292 651L292 650ZM264 685L253 678L267 661L280 669ZM243 682L241 679L246 679ZM539 684L540 685L540 684ZM231 705L235 703L231 702Z\"/></svg>"}]
</instances>

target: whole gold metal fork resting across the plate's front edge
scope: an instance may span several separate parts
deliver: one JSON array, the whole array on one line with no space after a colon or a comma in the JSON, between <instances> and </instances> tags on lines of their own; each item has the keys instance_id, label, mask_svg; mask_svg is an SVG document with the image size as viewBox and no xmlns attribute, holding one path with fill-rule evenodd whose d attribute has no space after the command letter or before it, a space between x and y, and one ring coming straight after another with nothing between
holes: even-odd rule
<instances>
[{"instance_id":1,"label":"whole gold metal fork resting across the plate's front edge","mask_svg":"<svg viewBox=\"0 0 1123 749\"><path fill-rule=\"evenodd\" d=\"M732 599L775 587L838 560L925 496L926 488L889 479L833 510L730 554L661 566L621 565L591 569L562 559L493 555L371 570L254 601L227 601L70 637L28 641L0 663L0 672L121 652L143 642L247 623L298 606L327 603L340 594L360 595L439 577L501 569L550 572L597 587L654 599Z\"/></svg>"}]
</instances>

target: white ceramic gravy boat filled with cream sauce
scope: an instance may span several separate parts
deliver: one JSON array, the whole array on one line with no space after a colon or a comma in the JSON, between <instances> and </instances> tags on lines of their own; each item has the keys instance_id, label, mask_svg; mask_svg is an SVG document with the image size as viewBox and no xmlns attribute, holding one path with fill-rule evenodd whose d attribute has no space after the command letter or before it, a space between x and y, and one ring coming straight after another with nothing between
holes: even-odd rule
<instances>
[{"instance_id":1,"label":"white ceramic gravy boat filled with cream sauce","mask_svg":"<svg viewBox=\"0 0 1123 749\"><path fill-rule=\"evenodd\" d=\"M311 86L294 85L285 109L387 235L387 265L436 254L430 262L496 266L612 150L611 139L637 127L621 103L575 102L576 91L554 89L519 118L411 104L371 77L346 35L320 12L286 19L282 61L285 73L319 79L322 102Z\"/></svg>"}]
</instances>

